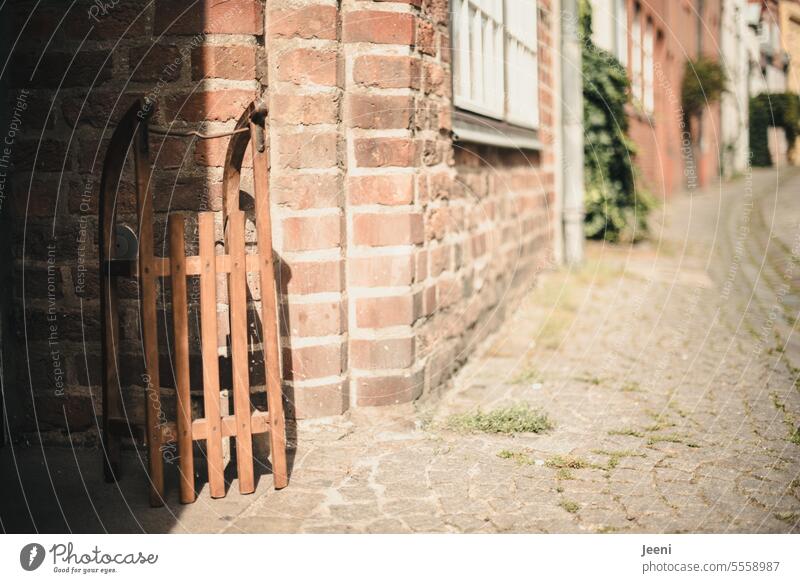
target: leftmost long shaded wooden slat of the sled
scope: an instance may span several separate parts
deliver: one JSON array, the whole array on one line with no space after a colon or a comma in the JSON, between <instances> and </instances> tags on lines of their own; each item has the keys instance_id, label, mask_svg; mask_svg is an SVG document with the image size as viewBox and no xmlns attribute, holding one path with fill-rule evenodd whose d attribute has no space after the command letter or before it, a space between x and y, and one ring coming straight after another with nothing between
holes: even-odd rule
<instances>
[{"instance_id":1,"label":"leftmost long shaded wooden slat of the sled","mask_svg":"<svg viewBox=\"0 0 800 583\"><path fill-rule=\"evenodd\" d=\"M147 132L139 125L134 143L136 201L139 219L139 293L142 343L146 375L145 424L150 470L150 504L164 504L164 460L161 457L161 384L158 371L158 325L156 321L156 274L153 269L153 192L148 160Z\"/></svg>"}]
</instances>

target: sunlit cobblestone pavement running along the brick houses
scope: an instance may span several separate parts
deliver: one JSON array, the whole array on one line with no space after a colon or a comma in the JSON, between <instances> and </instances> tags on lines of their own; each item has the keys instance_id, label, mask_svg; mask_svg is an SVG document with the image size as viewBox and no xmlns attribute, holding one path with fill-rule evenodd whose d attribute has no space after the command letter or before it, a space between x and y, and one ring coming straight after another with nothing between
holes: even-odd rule
<instances>
[{"instance_id":1,"label":"sunlit cobblestone pavement running along the brick houses","mask_svg":"<svg viewBox=\"0 0 800 583\"><path fill-rule=\"evenodd\" d=\"M776 181L677 198L651 243L591 245L441 397L302 424L282 491L265 475L254 496L95 514L176 532L797 532L800 173ZM553 429L447 428L519 403Z\"/></svg>"}]
</instances>

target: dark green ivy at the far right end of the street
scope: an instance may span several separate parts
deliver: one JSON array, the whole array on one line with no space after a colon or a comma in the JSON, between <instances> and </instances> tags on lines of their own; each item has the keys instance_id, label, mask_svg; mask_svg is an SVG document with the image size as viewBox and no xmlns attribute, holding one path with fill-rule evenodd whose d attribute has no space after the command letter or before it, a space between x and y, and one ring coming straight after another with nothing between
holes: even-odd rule
<instances>
[{"instance_id":1,"label":"dark green ivy at the far right end of the street","mask_svg":"<svg viewBox=\"0 0 800 583\"><path fill-rule=\"evenodd\" d=\"M767 130L782 127L794 145L800 133L800 97L796 93L760 93L750 98L750 152L753 166L772 166Z\"/></svg>"}]
</instances>

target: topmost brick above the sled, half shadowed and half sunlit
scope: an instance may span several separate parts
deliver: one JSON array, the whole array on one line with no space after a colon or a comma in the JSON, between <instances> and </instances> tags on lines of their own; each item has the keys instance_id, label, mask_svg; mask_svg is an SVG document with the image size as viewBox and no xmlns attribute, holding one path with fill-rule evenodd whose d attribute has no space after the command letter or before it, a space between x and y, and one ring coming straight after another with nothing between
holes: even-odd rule
<instances>
[{"instance_id":1,"label":"topmost brick above the sled, half shadowed and half sunlit","mask_svg":"<svg viewBox=\"0 0 800 583\"><path fill-rule=\"evenodd\" d=\"M260 0L157 0L156 34L263 34Z\"/></svg>"}]
</instances>

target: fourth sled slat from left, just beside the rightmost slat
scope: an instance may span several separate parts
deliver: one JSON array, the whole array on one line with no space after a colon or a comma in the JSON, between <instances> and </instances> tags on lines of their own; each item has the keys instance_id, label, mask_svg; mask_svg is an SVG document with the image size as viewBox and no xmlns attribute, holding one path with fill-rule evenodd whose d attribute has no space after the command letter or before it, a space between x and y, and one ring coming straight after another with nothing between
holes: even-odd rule
<instances>
[{"instance_id":1,"label":"fourth sled slat from left, just beside the rightmost slat","mask_svg":"<svg viewBox=\"0 0 800 583\"><path fill-rule=\"evenodd\" d=\"M228 298L231 315L231 362L233 364L233 412L236 417L236 465L239 492L255 490L253 441L250 430L250 372L247 354L247 268L244 253L244 213L228 215L226 241L231 257Z\"/></svg>"}]
</instances>

